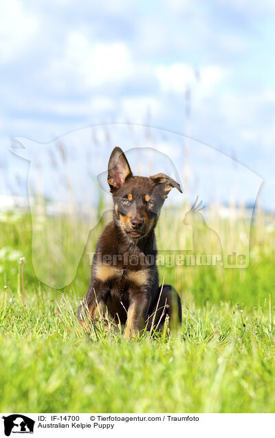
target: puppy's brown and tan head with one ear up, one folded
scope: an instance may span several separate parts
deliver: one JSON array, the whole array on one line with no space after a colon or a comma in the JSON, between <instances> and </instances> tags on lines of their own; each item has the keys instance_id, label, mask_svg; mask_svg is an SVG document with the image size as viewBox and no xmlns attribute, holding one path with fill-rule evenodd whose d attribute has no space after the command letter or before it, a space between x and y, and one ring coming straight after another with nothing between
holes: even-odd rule
<instances>
[{"instance_id":1,"label":"puppy's brown and tan head with one ear up, one folded","mask_svg":"<svg viewBox=\"0 0 275 438\"><path fill-rule=\"evenodd\" d=\"M139 240L155 228L160 209L176 181L165 174L146 178L133 176L126 156L115 147L108 166L108 184L113 195L114 218L131 240Z\"/></svg>"}]
</instances>

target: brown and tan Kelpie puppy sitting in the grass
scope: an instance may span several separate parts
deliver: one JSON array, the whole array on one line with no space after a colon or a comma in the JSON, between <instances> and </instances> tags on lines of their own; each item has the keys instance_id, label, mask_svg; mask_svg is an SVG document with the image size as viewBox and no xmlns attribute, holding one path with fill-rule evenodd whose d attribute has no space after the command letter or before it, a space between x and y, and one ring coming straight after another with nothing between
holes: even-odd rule
<instances>
[{"instance_id":1,"label":"brown and tan Kelpie puppy sitting in the grass","mask_svg":"<svg viewBox=\"0 0 275 438\"><path fill-rule=\"evenodd\" d=\"M85 311L96 319L107 307L111 317L126 324L127 339L144 326L151 328L160 318L162 324L173 312L181 323L179 295L173 286L159 286L154 233L164 200L172 187L181 192L179 184L164 174L133 176L119 147L109 159L108 183L113 220L96 245L91 282L78 308L78 320L83 322Z\"/></svg>"}]
</instances>

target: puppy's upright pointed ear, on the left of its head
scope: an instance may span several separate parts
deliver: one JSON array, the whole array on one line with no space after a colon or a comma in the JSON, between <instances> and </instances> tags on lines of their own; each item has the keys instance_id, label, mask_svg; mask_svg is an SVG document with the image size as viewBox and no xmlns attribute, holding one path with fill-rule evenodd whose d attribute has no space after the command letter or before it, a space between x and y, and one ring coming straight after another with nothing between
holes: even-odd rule
<instances>
[{"instance_id":1,"label":"puppy's upright pointed ear, on the left of its head","mask_svg":"<svg viewBox=\"0 0 275 438\"><path fill-rule=\"evenodd\" d=\"M111 191L118 189L125 183L126 178L133 176L126 156L120 149L115 147L111 153L108 165L108 184Z\"/></svg>"}]
</instances>

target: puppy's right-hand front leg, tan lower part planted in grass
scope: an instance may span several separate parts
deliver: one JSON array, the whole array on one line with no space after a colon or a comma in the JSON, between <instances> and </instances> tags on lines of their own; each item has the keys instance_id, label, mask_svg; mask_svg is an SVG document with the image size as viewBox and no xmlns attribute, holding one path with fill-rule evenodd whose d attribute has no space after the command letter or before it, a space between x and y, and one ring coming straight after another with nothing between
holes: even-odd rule
<instances>
[{"instance_id":1,"label":"puppy's right-hand front leg, tan lower part planted in grass","mask_svg":"<svg viewBox=\"0 0 275 438\"><path fill-rule=\"evenodd\" d=\"M137 333L144 325L150 299L146 291L129 291L130 305L127 312L126 328L124 339L130 340L133 334Z\"/></svg>"}]
</instances>

